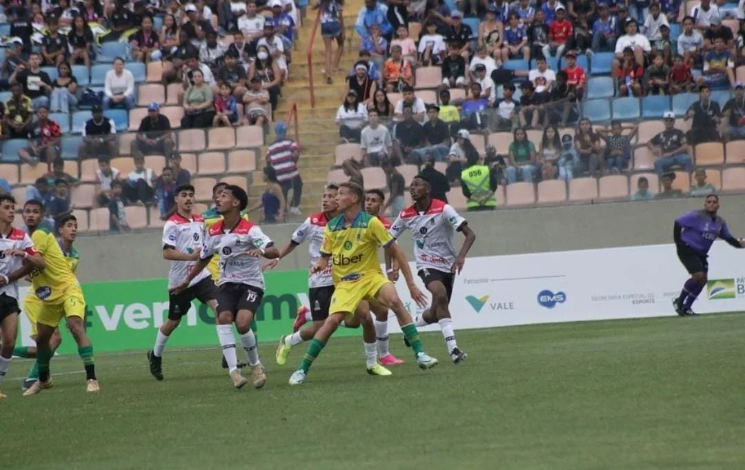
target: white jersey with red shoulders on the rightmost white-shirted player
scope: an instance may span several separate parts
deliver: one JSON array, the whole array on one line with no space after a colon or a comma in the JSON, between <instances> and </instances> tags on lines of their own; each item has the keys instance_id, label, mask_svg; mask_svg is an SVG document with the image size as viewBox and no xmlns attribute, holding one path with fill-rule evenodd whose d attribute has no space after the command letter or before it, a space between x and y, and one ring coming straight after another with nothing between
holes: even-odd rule
<instances>
[{"instance_id":1,"label":"white jersey with red shoulders on the rightmost white-shirted player","mask_svg":"<svg viewBox=\"0 0 745 470\"><path fill-rule=\"evenodd\" d=\"M466 219L460 217L448 203L433 199L425 212L416 205L401 211L390 228L390 235L399 238L409 229L414 241L416 270L434 269L448 273L455 261L453 238Z\"/></svg>"}]
</instances>

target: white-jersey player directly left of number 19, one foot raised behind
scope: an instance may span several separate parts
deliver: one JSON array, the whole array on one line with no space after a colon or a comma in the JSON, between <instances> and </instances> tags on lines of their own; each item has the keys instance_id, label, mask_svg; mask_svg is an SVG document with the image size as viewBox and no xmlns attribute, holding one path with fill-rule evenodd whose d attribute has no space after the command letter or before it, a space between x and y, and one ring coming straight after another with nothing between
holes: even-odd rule
<instances>
[{"instance_id":1,"label":"white-jersey player directly left of number 19, one foot raised behind","mask_svg":"<svg viewBox=\"0 0 745 470\"><path fill-rule=\"evenodd\" d=\"M194 206L194 186L186 184L176 188L176 212L168 217L163 226L163 258L171 261L168 271L168 289L180 285L194 264L199 260L204 236L204 217L191 213ZM198 299L208 305L217 317L218 288L209 270L203 269L182 293L168 296L168 318L160 325L155 337L155 346L148 351L150 374L163 380L162 355L165 343L181 323L181 318L191 308L191 301Z\"/></svg>"}]
</instances>

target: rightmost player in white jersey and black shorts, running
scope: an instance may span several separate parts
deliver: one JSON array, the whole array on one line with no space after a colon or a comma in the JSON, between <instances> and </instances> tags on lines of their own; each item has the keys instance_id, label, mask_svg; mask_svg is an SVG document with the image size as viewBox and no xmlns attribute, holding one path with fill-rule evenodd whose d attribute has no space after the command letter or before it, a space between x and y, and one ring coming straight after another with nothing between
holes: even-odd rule
<instances>
[{"instance_id":1,"label":"rightmost player in white jersey and black shorts, running","mask_svg":"<svg viewBox=\"0 0 745 470\"><path fill-rule=\"evenodd\" d=\"M432 293L430 308L417 314L414 323L416 326L439 323L450 359L457 364L466 359L466 353L458 349L455 342L448 304L453 293L455 274L460 274L463 270L466 255L476 240L476 234L452 206L432 199L430 191L430 183L426 177L418 175L413 178L410 186L413 206L402 210L393 223L390 234L393 238L399 238L406 229L411 231L417 273L427 290ZM466 241L457 255L453 246L455 232L466 235Z\"/></svg>"}]
</instances>

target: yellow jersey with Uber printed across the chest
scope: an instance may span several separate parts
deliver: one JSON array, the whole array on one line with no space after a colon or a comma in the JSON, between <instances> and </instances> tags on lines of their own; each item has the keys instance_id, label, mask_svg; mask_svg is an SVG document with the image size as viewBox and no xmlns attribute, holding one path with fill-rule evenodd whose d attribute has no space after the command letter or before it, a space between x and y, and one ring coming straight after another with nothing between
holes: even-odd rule
<instances>
[{"instance_id":1,"label":"yellow jersey with Uber printed across the chest","mask_svg":"<svg viewBox=\"0 0 745 470\"><path fill-rule=\"evenodd\" d=\"M393 241L378 217L360 211L349 226L344 225L344 215L337 215L327 223L320 251L332 257L332 278L336 284L365 274L382 274L378 247L387 247Z\"/></svg>"}]
</instances>

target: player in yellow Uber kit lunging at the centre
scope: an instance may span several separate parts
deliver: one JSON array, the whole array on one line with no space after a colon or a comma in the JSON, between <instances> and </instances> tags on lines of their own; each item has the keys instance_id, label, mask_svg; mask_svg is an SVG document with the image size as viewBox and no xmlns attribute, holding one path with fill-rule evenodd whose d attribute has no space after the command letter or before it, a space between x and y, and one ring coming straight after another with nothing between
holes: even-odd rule
<instances>
[{"instance_id":1,"label":"player in yellow Uber kit lunging at the centre","mask_svg":"<svg viewBox=\"0 0 745 470\"><path fill-rule=\"evenodd\" d=\"M305 382L308 369L323 346L326 346L342 321L352 319L357 306L363 300L378 302L393 310L404 336L414 351L419 367L430 369L436 366L437 359L424 352L410 314L399 299L393 283L383 275L378 264L377 252L380 246L396 259L406 279L411 298L417 305L424 307L427 299L414 283L406 255L393 243L393 237L377 217L360 210L360 204L364 200L364 191L360 185L353 182L341 183L336 200L341 213L326 224L320 250L321 258L311 267L312 273L320 273L326 269L329 261L333 263L332 279L335 290L329 317L311 340L299 369L290 378L290 384Z\"/></svg>"}]
</instances>

